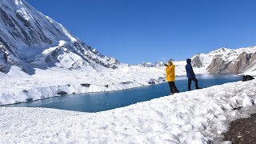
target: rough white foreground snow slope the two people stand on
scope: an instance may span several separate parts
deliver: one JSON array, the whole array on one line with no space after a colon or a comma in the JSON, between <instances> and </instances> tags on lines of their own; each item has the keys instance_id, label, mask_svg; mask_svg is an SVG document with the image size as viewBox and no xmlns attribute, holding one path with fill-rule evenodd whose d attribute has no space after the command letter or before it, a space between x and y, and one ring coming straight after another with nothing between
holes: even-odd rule
<instances>
[{"instance_id":1,"label":"rough white foreground snow slope the two people stand on","mask_svg":"<svg viewBox=\"0 0 256 144\"><path fill-rule=\"evenodd\" d=\"M0 108L2 143L206 143L248 117L256 80L174 94L94 114ZM243 106L242 110L233 110Z\"/></svg>"}]
</instances>

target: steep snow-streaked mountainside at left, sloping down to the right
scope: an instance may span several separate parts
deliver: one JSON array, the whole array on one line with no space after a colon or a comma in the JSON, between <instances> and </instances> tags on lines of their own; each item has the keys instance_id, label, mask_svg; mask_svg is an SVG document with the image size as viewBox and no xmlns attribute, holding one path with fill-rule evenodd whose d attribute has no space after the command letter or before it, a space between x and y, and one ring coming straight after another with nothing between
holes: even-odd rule
<instances>
[{"instance_id":1,"label":"steep snow-streaked mountainside at left, sloping down to the right","mask_svg":"<svg viewBox=\"0 0 256 144\"><path fill-rule=\"evenodd\" d=\"M0 71L19 66L27 73L34 68L58 66L67 69L118 67L81 42L65 27L35 10L24 0L0 0Z\"/></svg>"}]
</instances>

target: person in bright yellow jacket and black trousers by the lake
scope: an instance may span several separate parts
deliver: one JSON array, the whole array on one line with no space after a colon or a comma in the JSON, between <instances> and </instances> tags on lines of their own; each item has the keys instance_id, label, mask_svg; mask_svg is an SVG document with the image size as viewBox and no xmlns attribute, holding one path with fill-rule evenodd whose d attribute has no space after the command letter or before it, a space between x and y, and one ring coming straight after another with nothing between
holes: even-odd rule
<instances>
[{"instance_id":1,"label":"person in bright yellow jacket and black trousers by the lake","mask_svg":"<svg viewBox=\"0 0 256 144\"><path fill-rule=\"evenodd\" d=\"M178 89L175 86L175 65L171 60L168 61L166 65L166 81L169 84L170 87L170 94L178 93Z\"/></svg>"}]
</instances>

